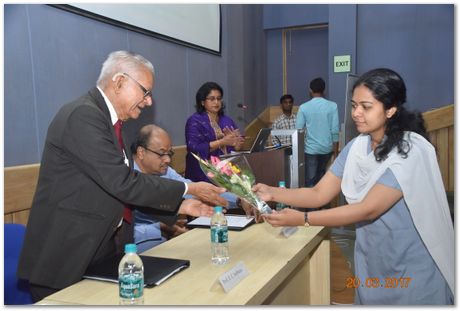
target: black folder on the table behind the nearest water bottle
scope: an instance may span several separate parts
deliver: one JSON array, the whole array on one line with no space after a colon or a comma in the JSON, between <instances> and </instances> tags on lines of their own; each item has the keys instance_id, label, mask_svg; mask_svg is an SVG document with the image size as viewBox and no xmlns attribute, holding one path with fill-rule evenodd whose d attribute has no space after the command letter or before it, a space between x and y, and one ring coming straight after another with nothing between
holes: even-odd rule
<instances>
[{"instance_id":1,"label":"black folder on the table behind the nearest water bottle","mask_svg":"<svg viewBox=\"0 0 460 311\"><path fill-rule=\"evenodd\" d=\"M83 278L118 283L118 265L124 254L109 257L88 268ZM140 255L144 264L144 286L160 285L188 268L190 260Z\"/></svg>"}]
</instances>

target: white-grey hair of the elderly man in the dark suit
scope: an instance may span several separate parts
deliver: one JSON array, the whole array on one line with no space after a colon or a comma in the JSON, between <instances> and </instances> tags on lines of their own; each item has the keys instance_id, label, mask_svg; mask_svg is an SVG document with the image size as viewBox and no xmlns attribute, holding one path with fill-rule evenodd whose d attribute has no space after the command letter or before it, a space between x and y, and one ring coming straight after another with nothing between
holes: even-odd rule
<instances>
[{"instance_id":1,"label":"white-grey hair of the elderly man in the dark suit","mask_svg":"<svg viewBox=\"0 0 460 311\"><path fill-rule=\"evenodd\" d=\"M97 86L105 88L115 74L123 72L133 74L133 72L139 70L141 67L148 69L155 78L155 69L152 63L142 55L128 51L112 52L102 64L101 73L97 79Z\"/></svg>"}]
</instances>

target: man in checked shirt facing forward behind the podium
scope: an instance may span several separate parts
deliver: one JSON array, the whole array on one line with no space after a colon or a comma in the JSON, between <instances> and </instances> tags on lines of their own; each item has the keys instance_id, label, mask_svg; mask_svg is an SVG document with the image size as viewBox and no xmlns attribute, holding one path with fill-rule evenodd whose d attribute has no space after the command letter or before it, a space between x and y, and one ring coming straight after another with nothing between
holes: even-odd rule
<instances>
[{"instance_id":1,"label":"man in checked shirt facing forward behind the podium","mask_svg":"<svg viewBox=\"0 0 460 311\"><path fill-rule=\"evenodd\" d=\"M280 98L282 114L279 115L272 124L272 130L290 130L295 129L296 115L292 113L294 97L291 94L285 94ZM291 145L291 136L289 135L272 135L272 144Z\"/></svg>"}]
</instances>

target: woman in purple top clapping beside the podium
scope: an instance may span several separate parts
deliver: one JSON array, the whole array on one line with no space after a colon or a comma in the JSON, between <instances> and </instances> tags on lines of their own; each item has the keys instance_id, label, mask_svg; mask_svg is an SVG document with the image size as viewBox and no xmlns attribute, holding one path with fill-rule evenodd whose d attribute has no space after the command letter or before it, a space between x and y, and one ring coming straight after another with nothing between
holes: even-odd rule
<instances>
[{"instance_id":1,"label":"woman in purple top clapping beside the podium","mask_svg":"<svg viewBox=\"0 0 460 311\"><path fill-rule=\"evenodd\" d=\"M215 82L204 83L196 93L196 112L185 125L185 178L192 181L209 182L192 153L209 160L211 156L238 151L243 146L244 137L238 126L224 114L223 96L222 87Z\"/></svg>"}]
</instances>

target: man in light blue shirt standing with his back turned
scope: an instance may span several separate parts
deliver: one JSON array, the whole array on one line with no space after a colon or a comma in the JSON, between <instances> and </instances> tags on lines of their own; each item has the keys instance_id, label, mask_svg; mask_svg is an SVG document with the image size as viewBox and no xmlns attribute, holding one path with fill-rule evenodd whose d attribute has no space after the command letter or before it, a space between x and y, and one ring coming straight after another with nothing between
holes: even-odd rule
<instances>
[{"instance_id":1,"label":"man in light blue shirt standing with his back turned","mask_svg":"<svg viewBox=\"0 0 460 311\"><path fill-rule=\"evenodd\" d=\"M313 187L326 173L332 154L337 155L339 115L337 104L324 98L326 83L322 78L310 82L311 100L299 107L296 128L305 134L305 186Z\"/></svg>"}]
</instances>

